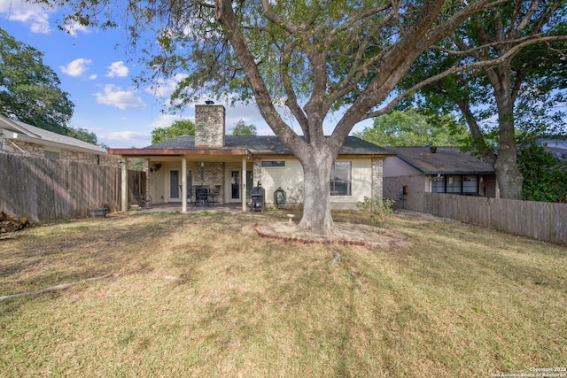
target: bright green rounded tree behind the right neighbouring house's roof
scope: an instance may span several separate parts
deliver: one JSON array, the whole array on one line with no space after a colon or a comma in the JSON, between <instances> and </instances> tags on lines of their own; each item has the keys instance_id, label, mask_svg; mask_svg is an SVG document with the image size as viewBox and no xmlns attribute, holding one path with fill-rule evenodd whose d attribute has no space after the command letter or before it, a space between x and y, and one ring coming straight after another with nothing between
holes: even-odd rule
<instances>
[{"instance_id":1,"label":"bright green rounded tree behind the right neighbouring house's roof","mask_svg":"<svg viewBox=\"0 0 567 378\"><path fill-rule=\"evenodd\" d=\"M426 115L416 109L393 111L354 133L379 146L458 146L468 135L451 115Z\"/></svg>"}]
</instances>

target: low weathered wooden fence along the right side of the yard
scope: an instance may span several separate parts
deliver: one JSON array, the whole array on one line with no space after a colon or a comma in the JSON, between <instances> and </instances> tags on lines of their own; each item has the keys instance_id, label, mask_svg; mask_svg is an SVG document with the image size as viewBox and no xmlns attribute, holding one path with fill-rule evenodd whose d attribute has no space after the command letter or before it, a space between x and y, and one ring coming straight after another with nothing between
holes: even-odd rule
<instances>
[{"instance_id":1,"label":"low weathered wooden fence along the right side of the yard","mask_svg":"<svg viewBox=\"0 0 567 378\"><path fill-rule=\"evenodd\" d=\"M567 244L567 204L425 193L423 212Z\"/></svg>"}]
</instances>

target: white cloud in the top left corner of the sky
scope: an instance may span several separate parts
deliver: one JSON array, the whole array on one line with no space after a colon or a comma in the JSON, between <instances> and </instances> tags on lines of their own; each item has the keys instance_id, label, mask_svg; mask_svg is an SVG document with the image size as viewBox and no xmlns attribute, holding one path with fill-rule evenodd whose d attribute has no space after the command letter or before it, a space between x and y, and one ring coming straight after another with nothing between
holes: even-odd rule
<instances>
[{"instance_id":1,"label":"white cloud in the top left corner of the sky","mask_svg":"<svg viewBox=\"0 0 567 378\"><path fill-rule=\"evenodd\" d=\"M26 24L32 33L50 34L50 13L54 9L45 9L41 4L29 4L20 0L0 0L0 14L5 19ZM3 17L4 18L4 17Z\"/></svg>"}]
</instances>

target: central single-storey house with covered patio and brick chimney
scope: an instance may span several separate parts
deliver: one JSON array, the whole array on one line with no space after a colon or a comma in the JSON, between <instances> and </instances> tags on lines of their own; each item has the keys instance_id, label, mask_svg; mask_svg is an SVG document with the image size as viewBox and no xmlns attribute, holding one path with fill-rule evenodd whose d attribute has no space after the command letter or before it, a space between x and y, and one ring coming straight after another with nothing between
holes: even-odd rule
<instances>
[{"instance_id":1,"label":"central single-storey house with covered patio and brick chimney","mask_svg":"<svg viewBox=\"0 0 567 378\"><path fill-rule=\"evenodd\" d=\"M190 188L206 185L219 189L219 204L242 204L245 210L252 188L259 181L265 189L267 206L275 203L274 193L278 189L283 189L288 204L303 200L299 160L276 136L225 135L225 109L219 104L195 107L195 135L183 135L142 149L109 149L109 153L125 160L144 158L147 193L154 204L181 203L182 210L186 209L183 188L190 193ZM364 197L382 197L382 165L386 156L393 154L360 138L347 137L330 180L331 206L354 209ZM122 201L125 207L127 199Z\"/></svg>"}]
</instances>

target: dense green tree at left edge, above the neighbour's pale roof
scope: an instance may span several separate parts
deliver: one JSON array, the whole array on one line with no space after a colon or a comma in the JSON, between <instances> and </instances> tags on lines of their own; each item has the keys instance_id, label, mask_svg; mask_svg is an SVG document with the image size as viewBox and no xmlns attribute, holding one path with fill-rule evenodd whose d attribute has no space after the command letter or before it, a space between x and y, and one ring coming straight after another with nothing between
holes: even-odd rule
<instances>
[{"instance_id":1,"label":"dense green tree at left edge, above the neighbour's pale roof","mask_svg":"<svg viewBox=\"0 0 567 378\"><path fill-rule=\"evenodd\" d=\"M0 28L0 112L6 117L67 135L74 104L43 53Z\"/></svg>"}]
</instances>

